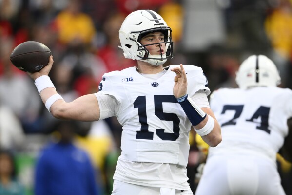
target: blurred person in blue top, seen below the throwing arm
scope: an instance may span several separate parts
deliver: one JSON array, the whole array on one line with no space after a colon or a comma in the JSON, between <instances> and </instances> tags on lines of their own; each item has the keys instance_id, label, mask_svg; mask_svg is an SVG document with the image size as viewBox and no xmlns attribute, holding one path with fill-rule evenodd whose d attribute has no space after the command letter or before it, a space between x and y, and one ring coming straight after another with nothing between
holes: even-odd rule
<instances>
[{"instance_id":1,"label":"blurred person in blue top, seen below the throwing arm","mask_svg":"<svg viewBox=\"0 0 292 195\"><path fill-rule=\"evenodd\" d=\"M90 157L74 142L74 121L58 121L57 142L40 152L35 172L35 195L97 195L98 186Z\"/></svg>"}]
</instances>

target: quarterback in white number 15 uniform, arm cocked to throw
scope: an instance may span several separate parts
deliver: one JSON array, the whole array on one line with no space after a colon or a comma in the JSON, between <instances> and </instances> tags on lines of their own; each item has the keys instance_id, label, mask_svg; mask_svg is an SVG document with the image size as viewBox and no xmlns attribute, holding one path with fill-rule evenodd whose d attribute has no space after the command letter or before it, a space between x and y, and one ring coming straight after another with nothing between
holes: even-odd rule
<instances>
[{"instance_id":1,"label":"quarterback in white number 15 uniform, arm cocked to throw","mask_svg":"<svg viewBox=\"0 0 292 195\"><path fill-rule=\"evenodd\" d=\"M138 10L122 23L120 48L137 67L103 75L99 91L66 103L47 76L53 59L31 74L56 118L95 121L117 116L123 126L112 195L193 195L187 183L189 133L211 147L221 129L209 106L200 67L163 63L173 57L171 28L156 12ZM80 178L82 179L82 178Z\"/></svg>"}]
</instances>

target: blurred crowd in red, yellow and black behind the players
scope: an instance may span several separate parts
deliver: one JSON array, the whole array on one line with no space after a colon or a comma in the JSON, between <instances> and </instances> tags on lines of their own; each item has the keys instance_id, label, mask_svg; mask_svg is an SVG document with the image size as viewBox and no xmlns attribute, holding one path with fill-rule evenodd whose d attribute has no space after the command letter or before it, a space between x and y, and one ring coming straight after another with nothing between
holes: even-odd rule
<instances>
[{"instance_id":1,"label":"blurred crowd in red, yellow and black behind the players","mask_svg":"<svg viewBox=\"0 0 292 195\"><path fill-rule=\"evenodd\" d=\"M105 72L136 65L118 48L118 30L137 9L156 11L172 28L174 58L165 65L202 67L211 91L236 87L236 71L251 54L271 58L281 87L292 88L292 0L0 0L0 148L12 159L6 173L0 153L0 178L11 175L19 191L13 195L34 195L42 148L58 143L61 136L59 121L42 104L30 77L11 64L10 53L25 41L43 43L54 58L49 76L65 101L96 93ZM120 124L113 117L77 122L72 129L72 143L89 154L98 193L109 195L120 152ZM188 174L193 186L192 170L200 159L195 144L191 152ZM291 195L291 164L279 167Z\"/></svg>"}]
</instances>

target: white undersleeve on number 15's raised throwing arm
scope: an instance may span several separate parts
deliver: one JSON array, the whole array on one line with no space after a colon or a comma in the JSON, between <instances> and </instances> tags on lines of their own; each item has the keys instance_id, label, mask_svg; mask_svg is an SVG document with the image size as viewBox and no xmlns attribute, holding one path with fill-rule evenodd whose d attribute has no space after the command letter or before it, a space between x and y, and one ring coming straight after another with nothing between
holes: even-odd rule
<instances>
[{"instance_id":1,"label":"white undersleeve on number 15's raised throwing arm","mask_svg":"<svg viewBox=\"0 0 292 195\"><path fill-rule=\"evenodd\" d=\"M119 102L112 95L95 93L99 105L99 120L116 116L119 110Z\"/></svg>"}]
</instances>

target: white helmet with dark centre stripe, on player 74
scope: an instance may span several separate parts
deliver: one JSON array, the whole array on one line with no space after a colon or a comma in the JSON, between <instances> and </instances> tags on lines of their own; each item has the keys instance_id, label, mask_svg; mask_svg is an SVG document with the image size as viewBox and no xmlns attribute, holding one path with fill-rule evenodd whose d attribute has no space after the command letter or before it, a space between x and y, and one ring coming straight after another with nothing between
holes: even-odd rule
<instances>
[{"instance_id":1,"label":"white helmet with dark centre stripe, on player 74","mask_svg":"<svg viewBox=\"0 0 292 195\"><path fill-rule=\"evenodd\" d=\"M242 62L236 72L236 83L240 88L276 87L281 77L276 65L267 56L252 55Z\"/></svg>"}]
</instances>

